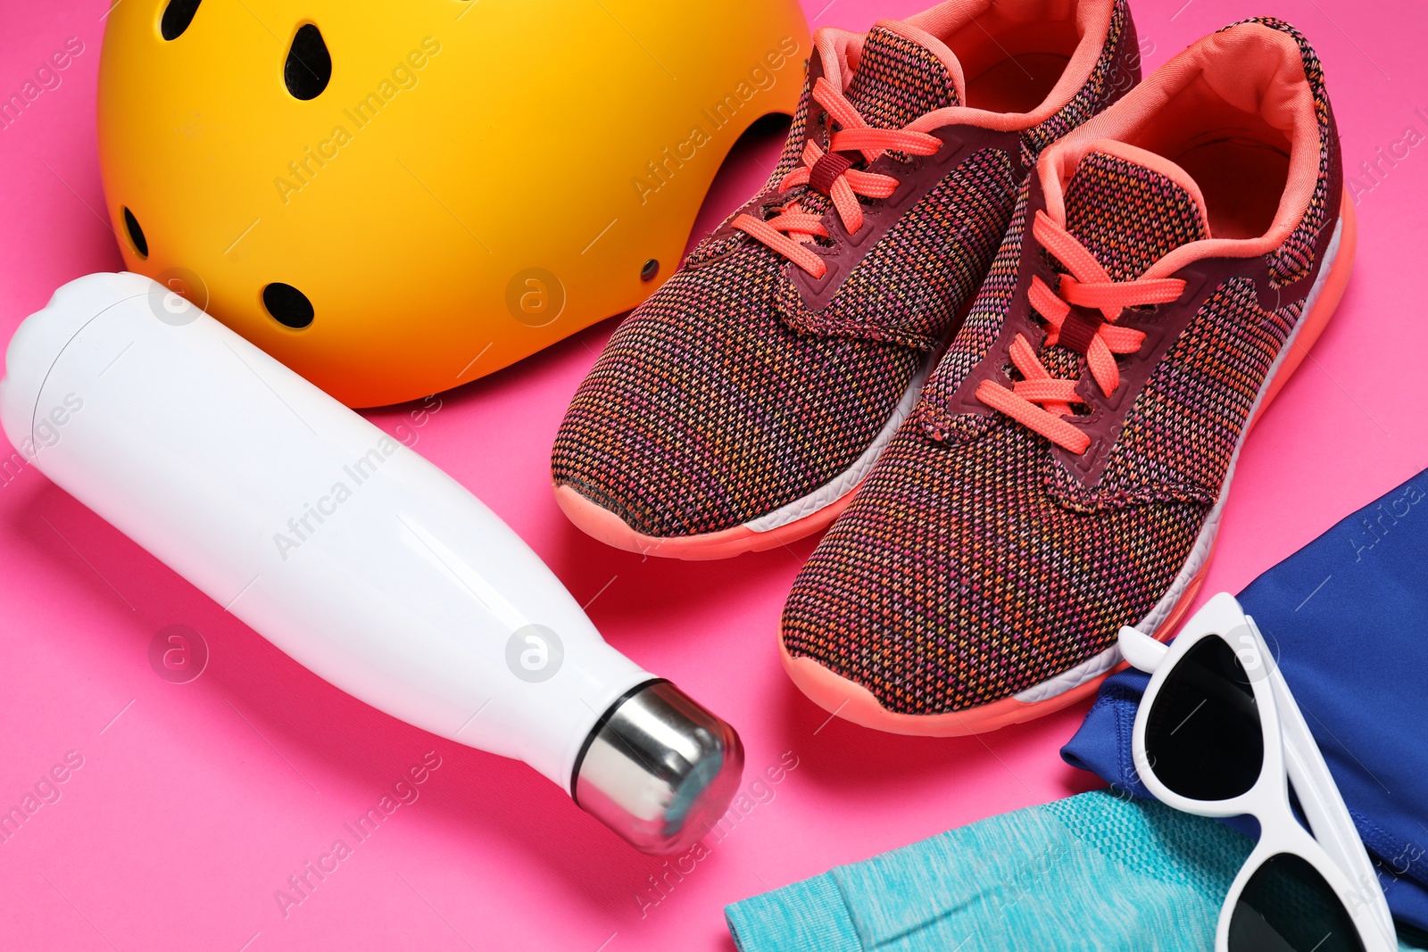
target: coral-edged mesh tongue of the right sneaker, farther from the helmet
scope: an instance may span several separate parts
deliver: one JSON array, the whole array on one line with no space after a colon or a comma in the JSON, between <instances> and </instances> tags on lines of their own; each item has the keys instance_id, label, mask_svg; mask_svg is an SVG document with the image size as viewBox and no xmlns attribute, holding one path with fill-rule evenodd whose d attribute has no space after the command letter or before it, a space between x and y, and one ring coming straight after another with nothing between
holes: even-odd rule
<instances>
[{"instance_id":1,"label":"coral-edged mesh tongue of the right sneaker, farther from the helmet","mask_svg":"<svg viewBox=\"0 0 1428 952\"><path fill-rule=\"evenodd\" d=\"M1067 231L1115 281L1138 278L1175 248L1210 237L1205 200L1175 163L1124 143L1095 146L1065 191Z\"/></svg>"}]
</instances>

